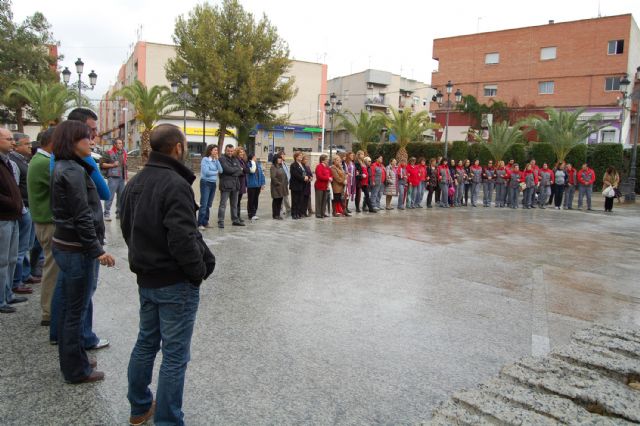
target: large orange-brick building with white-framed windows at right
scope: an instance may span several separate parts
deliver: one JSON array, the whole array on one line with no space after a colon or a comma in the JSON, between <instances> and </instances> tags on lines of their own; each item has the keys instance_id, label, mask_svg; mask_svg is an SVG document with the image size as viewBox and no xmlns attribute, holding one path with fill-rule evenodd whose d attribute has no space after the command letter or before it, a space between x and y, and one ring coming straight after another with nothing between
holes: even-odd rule
<instances>
[{"instance_id":1,"label":"large orange-brick building with white-framed windows at right","mask_svg":"<svg viewBox=\"0 0 640 426\"><path fill-rule=\"evenodd\" d=\"M443 93L451 81L454 91L483 104L537 113L585 108L585 117L601 114L606 126L589 143L631 142L631 114L619 102L620 78L627 74L633 84L640 66L640 30L631 14L436 39L433 59L439 66L431 82ZM445 111L436 103L432 110L444 126ZM464 114L450 114L449 140L469 124Z\"/></svg>"}]
</instances>

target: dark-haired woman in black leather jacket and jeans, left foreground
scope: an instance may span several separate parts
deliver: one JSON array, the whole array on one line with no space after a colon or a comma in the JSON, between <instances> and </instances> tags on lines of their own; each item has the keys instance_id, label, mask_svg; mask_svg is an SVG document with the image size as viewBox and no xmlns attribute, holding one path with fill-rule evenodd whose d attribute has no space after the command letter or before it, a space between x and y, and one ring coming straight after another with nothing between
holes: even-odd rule
<instances>
[{"instance_id":1,"label":"dark-haired woman in black leather jacket and jeans, left foreground","mask_svg":"<svg viewBox=\"0 0 640 426\"><path fill-rule=\"evenodd\" d=\"M90 134L86 124L68 120L59 124L52 136L56 156L51 177L52 252L60 268L61 286L58 354L60 369L69 383L104 379L84 348L82 317L98 265L115 265L102 247L105 230L100 197L90 177L93 168L82 160L91 154Z\"/></svg>"}]
</instances>

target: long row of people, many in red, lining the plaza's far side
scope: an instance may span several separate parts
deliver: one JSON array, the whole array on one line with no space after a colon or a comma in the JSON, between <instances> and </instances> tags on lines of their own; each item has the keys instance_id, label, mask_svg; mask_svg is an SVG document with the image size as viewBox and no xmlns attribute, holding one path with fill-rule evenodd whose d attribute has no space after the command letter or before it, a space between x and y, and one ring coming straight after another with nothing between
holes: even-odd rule
<instances>
[{"instance_id":1,"label":"long row of people, many in red, lining the plaza's far side","mask_svg":"<svg viewBox=\"0 0 640 426\"><path fill-rule=\"evenodd\" d=\"M282 220L290 214L294 220L315 215L349 217L355 212L377 213L380 210L419 208L497 207L512 209L592 210L592 193L596 175L587 163L579 169L559 162L553 166L536 164L533 159L521 168L514 160L508 163L479 160L447 161L444 158L409 158L408 162L392 159L384 164L379 156L372 161L363 151L337 154L330 160L319 157L312 171L309 156L295 152L287 164L285 153L273 155L270 167L272 218ZM201 207L199 218L209 217L216 179L221 181L221 200L218 209L218 227L224 228L226 200L231 198L231 218L234 226L245 226L240 215L239 201L249 191L247 212L250 220L257 220L258 197L265 186L261 162L251 155L247 158L243 148L232 145L218 158L217 148L210 146L201 165ZM212 183L210 183L212 182ZM224 183L224 187L223 184ZM611 212L613 201L620 198L620 175L609 167L603 176L605 211ZM213 185L213 192L210 188ZM315 194L314 211L311 195ZM577 197L576 197L577 191ZM209 195L211 194L211 195ZM288 199L291 197L291 206ZM384 205L382 203L385 198ZM395 203L394 198L396 198ZM204 229L207 220L199 220Z\"/></svg>"}]
</instances>

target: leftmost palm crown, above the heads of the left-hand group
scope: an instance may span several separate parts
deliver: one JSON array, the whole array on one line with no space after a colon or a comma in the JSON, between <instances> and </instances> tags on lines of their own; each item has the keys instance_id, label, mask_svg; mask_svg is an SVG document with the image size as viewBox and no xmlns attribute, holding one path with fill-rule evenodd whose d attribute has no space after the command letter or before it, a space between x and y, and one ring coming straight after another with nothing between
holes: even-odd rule
<instances>
[{"instance_id":1,"label":"leftmost palm crown, above the heads of the left-hand group","mask_svg":"<svg viewBox=\"0 0 640 426\"><path fill-rule=\"evenodd\" d=\"M75 92L60 83L34 83L29 80L15 82L6 96L23 99L30 115L40 122L43 130L60 122L76 100Z\"/></svg>"}]
</instances>

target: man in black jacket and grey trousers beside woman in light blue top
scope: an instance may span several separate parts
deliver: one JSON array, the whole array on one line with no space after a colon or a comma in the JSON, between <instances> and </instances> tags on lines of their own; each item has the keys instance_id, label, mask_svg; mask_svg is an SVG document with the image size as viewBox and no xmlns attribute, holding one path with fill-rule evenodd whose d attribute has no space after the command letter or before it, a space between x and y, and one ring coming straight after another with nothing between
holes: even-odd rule
<instances>
[{"instance_id":1,"label":"man in black jacket and grey trousers beside woman in light blue top","mask_svg":"<svg viewBox=\"0 0 640 426\"><path fill-rule=\"evenodd\" d=\"M245 226L240 219L238 211L238 194L240 192L240 176L244 173L244 169L233 155L233 145L227 145L224 149L224 155L220 157L220 165L222 173L218 176L220 180L220 205L218 206L218 228L224 228L224 214L227 210L227 201L231 198L231 220L233 226Z\"/></svg>"}]
</instances>

